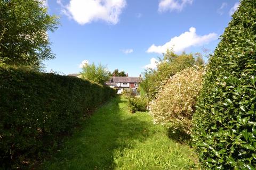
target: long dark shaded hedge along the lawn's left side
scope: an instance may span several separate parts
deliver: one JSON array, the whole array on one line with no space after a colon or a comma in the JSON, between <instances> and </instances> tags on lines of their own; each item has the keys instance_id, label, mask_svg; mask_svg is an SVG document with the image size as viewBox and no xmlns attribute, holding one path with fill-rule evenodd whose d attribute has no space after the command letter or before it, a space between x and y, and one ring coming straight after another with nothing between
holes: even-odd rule
<instances>
[{"instance_id":1,"label":"long dark shaded hedge along the lawn's left side","mask_svg":"<svg viewBox=\"0 0 256 170\"><path fill-rule=\"evenodd\" d=\"M0 169L49 149L115 92L74 77L0 67Z\"/></svg>"}]
</instances>

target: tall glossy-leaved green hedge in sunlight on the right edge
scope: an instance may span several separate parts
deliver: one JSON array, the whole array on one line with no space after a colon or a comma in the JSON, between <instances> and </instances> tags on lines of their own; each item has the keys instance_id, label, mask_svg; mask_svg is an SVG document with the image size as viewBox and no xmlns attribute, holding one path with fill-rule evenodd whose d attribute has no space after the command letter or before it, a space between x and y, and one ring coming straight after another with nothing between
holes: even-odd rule
<instances>
[{"instance_id":1,"label":"tall glossy-leaved green hedge in sunlight on the right edge","mask_svg":"<svg viewBox=\"0 0 256 170\"><path fill-rule=\"evenodd\" d=\"M256 1L243 0L210 58L193 117L205 169L256 167Z\"/></svg>"}]
</instances>

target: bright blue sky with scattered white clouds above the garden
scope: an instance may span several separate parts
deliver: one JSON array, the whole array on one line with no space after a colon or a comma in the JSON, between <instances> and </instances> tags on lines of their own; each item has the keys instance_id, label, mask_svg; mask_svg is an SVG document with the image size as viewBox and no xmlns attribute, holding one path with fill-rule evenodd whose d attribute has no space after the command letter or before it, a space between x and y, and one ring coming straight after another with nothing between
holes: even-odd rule
<instances>
[{"instance_id":1,"label":"bright blue sky with scattered white clouds above the garden","mask_svg":"<svg viewBox=\"0 0 256 170\"><path fill-rule=\"evenodd\" d=\"M238 0L48 0L47 6L61 23L49 32L56 58L44 62L47 71L79 73L87 60L137 77L167 48L214 51Z\"/></svg>"}]
</instances>

